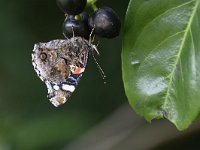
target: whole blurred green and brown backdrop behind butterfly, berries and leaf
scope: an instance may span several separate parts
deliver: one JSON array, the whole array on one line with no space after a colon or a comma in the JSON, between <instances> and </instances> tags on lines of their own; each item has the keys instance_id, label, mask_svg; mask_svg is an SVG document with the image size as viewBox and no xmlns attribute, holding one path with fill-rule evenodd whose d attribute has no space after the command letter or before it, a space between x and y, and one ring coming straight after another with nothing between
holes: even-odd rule
<instances>
[{"instance_id":1,"label":"whole blurred green and brown backdrop behind butterfly, berries and leaf","mask_svg":"<svg viewBox=\"0 0 200 150\"><path fill-rule=\"evenodd\" d=\"M112 7L123 24L128 0L99 0L98 6ZM114 39L96 38L107 84L89 58L76 91L55 108L31 52L37 42L62 39L63 20L55 0L0 1L0 150L200 149L199 122L179 132L166 120L147 123L127 105L122 31Z\"/></svg>"}]
</instances>

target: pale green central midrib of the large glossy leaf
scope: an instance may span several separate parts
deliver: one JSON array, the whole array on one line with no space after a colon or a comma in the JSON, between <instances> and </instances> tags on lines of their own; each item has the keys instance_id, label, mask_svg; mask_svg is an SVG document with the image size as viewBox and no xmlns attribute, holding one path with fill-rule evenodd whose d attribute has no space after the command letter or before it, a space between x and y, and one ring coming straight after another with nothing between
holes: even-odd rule
<instances>
[{"instance_id":1,"label":"pale green central midrib of the large glossy leaf","mask_svg":"<svg viewBox=\"0 0 200 150\"><path fill-rule=\"evenodd\" d=\"M191 29L191 25L193 23L194 16L196 15L196 11L197 11L198 6L199 6L199 0L196 0L195 6L193 8L191 17L190 17L188 25L187 25L187 28L184 30L185 33L184 33L184 36L183 36L183 40L182 40L182 42L180 44L180 48L178 50L178 54L177 54L177 58L175 60L174 68L173 68L171 74L169 74L169 76L168 76L169 77L169 84L167 86L168 88L167 88L166 96L164 97L164 104L162 106L163 109L165 108L167 100L168 100L168 97L170 96L170 89L172 87L173 77L174 77L175 71L176 71L176 65L178 64L178 62L180 60L181 53L182 53L183 47L185 45L185 41L187 40L187 36L189 34L189 31Z\"/></svg>"}]
</instances>

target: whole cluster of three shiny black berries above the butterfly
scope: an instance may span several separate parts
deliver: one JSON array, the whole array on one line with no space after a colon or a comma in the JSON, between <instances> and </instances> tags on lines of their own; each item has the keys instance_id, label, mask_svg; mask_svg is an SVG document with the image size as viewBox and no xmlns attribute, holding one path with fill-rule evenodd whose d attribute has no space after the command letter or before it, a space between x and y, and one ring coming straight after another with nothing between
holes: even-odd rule
<instances>
[{"instance_id":1,"label":"whole cluster of three shiny black berries above the butterfly","mask_svg":"<svg viewBox=\"0 0 200 150\"><path fill-rule=\"evenodd\" d=\"M63 34L67 38L81 36L89 38L93 30L95 35L114 38L119 35L121 22L115 11L101 7L91 15L84 12L87 0L56 0L59 8L66 14Z\"/></svg>"}]
</instances>

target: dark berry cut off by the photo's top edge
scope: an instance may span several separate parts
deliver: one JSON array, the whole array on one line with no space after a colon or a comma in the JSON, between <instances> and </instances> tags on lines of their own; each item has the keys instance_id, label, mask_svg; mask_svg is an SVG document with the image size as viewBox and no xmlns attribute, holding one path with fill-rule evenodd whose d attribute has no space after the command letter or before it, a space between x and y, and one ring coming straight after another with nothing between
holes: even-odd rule
<instances>
[{"instance_id":1,"label":"dark berry cut off by the photo's top edge","mask_svg":"<svg viewBox=\"0 0 200 150\"><path fill-rule=\"evenodd\" d=\"M56 0L56 2L64 13L78 15L85 9L87 0Z\"/></svg>"}]
</instances>

